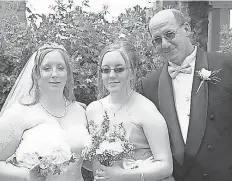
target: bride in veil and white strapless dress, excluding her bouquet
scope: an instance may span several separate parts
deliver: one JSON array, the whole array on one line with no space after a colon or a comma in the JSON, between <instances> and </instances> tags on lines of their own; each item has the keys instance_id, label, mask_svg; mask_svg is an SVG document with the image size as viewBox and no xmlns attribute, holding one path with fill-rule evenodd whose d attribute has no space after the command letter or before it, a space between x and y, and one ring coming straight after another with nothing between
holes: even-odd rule
<instances>
[{"instance_id":1,"label":"bride in veil and white strapless dress, excluding her bouquet","mask_svg":"<svg viewBox=\"0 0 233 181\"><path fill-rule=\"evenodd\" d=\"M63 174L45 178L5 162L15 153L24 131L41 123L60 126L78 156ZM0 113L0 180L83 181L80 153L85 134L85 110L75 102L69 56L63 46L45 44L25 65Z\"/></svg>"}]
</instances>

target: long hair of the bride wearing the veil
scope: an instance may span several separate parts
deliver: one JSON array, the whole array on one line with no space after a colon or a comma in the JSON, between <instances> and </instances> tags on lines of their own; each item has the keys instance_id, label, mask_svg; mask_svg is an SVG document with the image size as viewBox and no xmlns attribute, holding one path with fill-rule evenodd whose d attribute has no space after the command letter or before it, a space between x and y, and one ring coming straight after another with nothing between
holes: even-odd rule
<instances>
[{"instance_id":1,"label":"long hair of the bride wearing the veil","mask_svg":"<svg viewBox=\"0 0 233 181\"><path fill-rule=\"evenodd\" d=\"M38 103L40 99L40 91L38 87L38 79L40 79L40 66L42 61L44 60L44 57L52 52L52 51L58 51L61 56L64 59L66 69L67 69L67 81L66 85L63 90L63 95L68 101L75 101L74 96L74 80L73 80L73 71L70 63L69 55L66 51L66 49L62 45L58 45L56 43L47 43L40 47L37 52L34 59L34 66L31 73L31 79L32 79L32 86L28 92L28 95L30 96L29 102L20 101L23 105L34 105Z\"/></svg>"}]
</instances>

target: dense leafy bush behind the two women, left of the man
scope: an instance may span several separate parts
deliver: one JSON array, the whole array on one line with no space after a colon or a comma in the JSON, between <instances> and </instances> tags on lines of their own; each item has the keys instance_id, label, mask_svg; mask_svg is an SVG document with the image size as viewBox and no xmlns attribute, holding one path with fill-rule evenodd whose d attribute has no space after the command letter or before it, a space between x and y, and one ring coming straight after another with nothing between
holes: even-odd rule
<instances>
[{"instance_id":1,"label":"dense leafy bush behind the two women, left of the man","mask_svg":"<svg viewBox=\"0 0 233 181\"><path fill-rule=\"evenodd\" d=\"M27 27L8 21L9 17L15 18L14 10L3 17L7 21L1 22L1 26L8 29L1 30L0 106L30 55L48 41L63 44L71 55L75 96L86 104L96 99L98 56L107 44L117 39L132 41L141 57L138 80L161 65L149 40L145 9L135 6L112 23L104 19L106 10L85 12L83 7L74 6L72 2L57 1L53 10L54 13L47 16L31 13ZM35 23L37 18L42 19L39 27Z\"/></svg>"}]
</instances>

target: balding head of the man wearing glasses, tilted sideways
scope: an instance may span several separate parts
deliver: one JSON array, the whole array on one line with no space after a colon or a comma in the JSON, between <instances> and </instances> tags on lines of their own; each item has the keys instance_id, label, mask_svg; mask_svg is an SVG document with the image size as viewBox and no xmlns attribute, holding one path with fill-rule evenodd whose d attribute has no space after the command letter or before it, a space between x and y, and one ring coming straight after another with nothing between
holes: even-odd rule
<instances>
[{"instance_id":1,"label":"balding head of the man wearing glasses, tilted sideways","mask_svg":"<svg viewBox=\"0 0 233 181\"><path fill-rule=\"evenodd\" d=\"M149 22L149 32L156 52L177 65L194 49L189 39L191 27L179 10L157 12Z\"/></svg>"}]
</instances>

